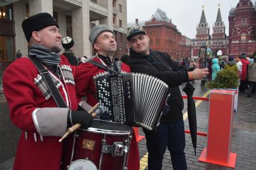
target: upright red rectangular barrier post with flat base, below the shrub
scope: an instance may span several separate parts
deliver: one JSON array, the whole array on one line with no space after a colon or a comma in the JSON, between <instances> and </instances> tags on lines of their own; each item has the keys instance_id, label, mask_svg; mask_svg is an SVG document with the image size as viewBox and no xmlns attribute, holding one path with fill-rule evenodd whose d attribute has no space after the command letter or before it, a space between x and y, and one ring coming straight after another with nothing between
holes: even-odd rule
<instances>
[{"instance_id":1,"label":"upright red rectangular barrier post with flat base, below the shrub","mask_svg":"<svg viewBox=\"0 0 256 170\"><path fill-rule=\"evenodd\" d=\"M212 90L210 93L207 148L199 161L235 168L236 153L231 153L234 115L234 91Z\"/></svg>"}]
</instances>

